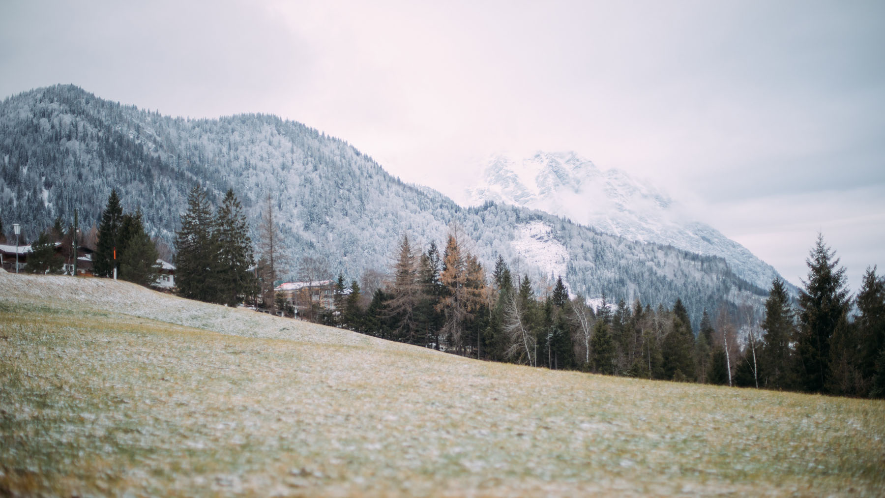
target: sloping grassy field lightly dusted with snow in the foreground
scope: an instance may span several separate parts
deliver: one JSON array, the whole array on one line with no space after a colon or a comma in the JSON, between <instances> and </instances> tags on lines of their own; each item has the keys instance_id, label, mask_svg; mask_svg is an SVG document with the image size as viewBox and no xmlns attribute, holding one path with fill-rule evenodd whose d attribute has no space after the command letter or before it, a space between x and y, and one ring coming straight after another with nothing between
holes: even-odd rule
<instances>
[{"instance_id":1,"label":"sloping grassy field lightly dusted with snow in the foreground","mask_svg":"<svg viewBox=\"0 0 885 498\"><path fill-rule=\"evenodd\" d=\"M0 495L866 494L885 402L481 363L0 273Z\"/></svg>"}]
</instances>

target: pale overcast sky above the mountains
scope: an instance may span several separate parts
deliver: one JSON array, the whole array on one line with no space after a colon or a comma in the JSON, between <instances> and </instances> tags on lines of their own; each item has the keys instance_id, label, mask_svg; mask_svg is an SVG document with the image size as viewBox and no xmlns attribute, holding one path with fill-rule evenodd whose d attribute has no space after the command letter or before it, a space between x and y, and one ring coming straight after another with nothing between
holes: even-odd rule
<instances>
[{"instance_id":1,"label":"pale overcast sky above the mountains","mask_svg":"<svg viewBox=\"0 0 885 498\"><path fill-rule=\"evenodd\" d=\"M458 201L489 154L650 180L799 284L885 272L885 2L0 3L0 96L267 112Z\"/></svg>"}]
</instances>

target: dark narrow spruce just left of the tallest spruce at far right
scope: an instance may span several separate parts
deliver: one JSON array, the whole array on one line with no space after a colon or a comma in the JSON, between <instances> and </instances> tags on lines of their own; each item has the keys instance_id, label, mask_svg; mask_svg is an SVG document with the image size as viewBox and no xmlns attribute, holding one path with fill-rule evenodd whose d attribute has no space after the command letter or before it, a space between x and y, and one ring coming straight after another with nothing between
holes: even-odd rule
<instances>
[{"instance_id":1,"label":"dark narrow spruce just left of the tallest spruce at far right","mask_svg":"<svg viewBox=\"0 0 885 498\"><path fill-rule=\"evenodd\" d=\"M795 367L789 342L796 336L796 327L787 287L777 277L772 280L772 287L768 291L766 318L762 322L762 329L766 331L761 352L763 385L772 389L794 387Z\"/></svg>"}]
</instances>

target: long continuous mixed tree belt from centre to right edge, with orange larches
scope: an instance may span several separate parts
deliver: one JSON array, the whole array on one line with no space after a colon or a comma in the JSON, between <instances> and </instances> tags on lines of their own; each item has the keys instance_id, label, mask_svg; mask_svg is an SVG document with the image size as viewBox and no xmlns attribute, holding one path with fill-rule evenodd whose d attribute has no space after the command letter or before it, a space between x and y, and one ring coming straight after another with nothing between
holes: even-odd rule
<instances>
[{"instance_id":1,"label":"long continuous mixed tree belt from centre to right edge, with orange larches","mask_svg":"<svg viewBox=\"0 0 885 498\"><path fill-rule=\"evenodd\" d=\"M543 293L498 257L490 274L450 234L415 249L404 236L387 285L360 303L357 280L335 285L328 325L482 360L643 379L885 397L885 279L867 269L855 298L819 237L797 303L772 282L761 319L745 304L704 311L693 332L672 308L636 300L590 307L561 278ZM852 316L851 305L857 304ZM742 323L743 330L737 324Z\"/></svg>"}]
</instances>

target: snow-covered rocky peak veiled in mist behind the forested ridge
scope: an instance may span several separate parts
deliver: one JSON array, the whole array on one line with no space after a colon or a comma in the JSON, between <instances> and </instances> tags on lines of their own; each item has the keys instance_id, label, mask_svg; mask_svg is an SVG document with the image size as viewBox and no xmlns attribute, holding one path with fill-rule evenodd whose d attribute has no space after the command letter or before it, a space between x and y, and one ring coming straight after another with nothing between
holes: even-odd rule
<instances>
[{"instance_id":1,"label":"snow-covered rocky peak veiled in mist behind the forested ridge","mask_svg":"<svg viewBox=\"0 0 885 498\"><path fill-rule=\"evenodd\" d=\"M489 158L467 192L472 203L511 203L563 216L633 241L718 256L744 280L767 288L777 272L749 249L696 221L669 195L627 173L601 171L574 152Z\"/></svg>"}]
</instances>

